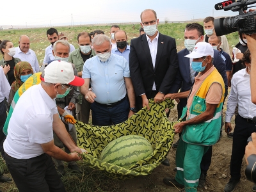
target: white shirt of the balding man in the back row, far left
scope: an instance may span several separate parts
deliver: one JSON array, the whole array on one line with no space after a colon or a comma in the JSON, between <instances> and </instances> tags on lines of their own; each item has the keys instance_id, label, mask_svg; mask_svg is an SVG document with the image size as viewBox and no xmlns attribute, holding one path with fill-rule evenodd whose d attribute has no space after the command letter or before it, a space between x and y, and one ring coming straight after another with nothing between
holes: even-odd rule
<instances>
[{"instance_id":1,"label":"white shirt of the balding man in the back row, far left","mask_svg":"<svg viewBox=\"0 0 256 192\"><path fill-rule=\"evenodd\" d=\"M13 58L19 58L21 61L27 61L33 68L33 72L37 73L40 71L36 54L33 50L29 49L28 52L24 53L20 50L20 47L15 47L15 55Z\"/></svg>"}]
</instances>

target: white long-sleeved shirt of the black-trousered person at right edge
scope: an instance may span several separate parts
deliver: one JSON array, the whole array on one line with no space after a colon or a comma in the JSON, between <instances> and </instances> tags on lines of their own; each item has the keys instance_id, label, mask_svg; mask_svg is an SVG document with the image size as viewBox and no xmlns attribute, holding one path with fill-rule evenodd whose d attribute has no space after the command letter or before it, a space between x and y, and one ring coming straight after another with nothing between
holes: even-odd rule
<instances>
[{"instance_id":1,"label":"white long-sleeved shirt of the black-trousered person at right edge","mask_svg":"<svg viewBox=\"0 0 256 192\"><path fill-rule=\"evenodd\" d=\"M256 116L256 105L251 100L250 75L246 68L239 70L232 77L225 122L230 122L237 104L238 114L243 118Z\"/></svg>"}]
</instances>

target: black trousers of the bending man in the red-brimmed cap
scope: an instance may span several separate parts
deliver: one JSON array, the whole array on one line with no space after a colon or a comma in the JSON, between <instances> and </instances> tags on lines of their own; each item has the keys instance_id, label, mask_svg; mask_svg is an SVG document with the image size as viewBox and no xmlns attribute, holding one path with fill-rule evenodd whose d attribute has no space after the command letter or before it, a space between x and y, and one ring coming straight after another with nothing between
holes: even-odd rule
<instances>
[{"instance_id":1,"label":"black trousers of the bending man in the red-brimmed cap","mask_svg":"<svg viewBox=\"0 0 256 192\"><path fill-rule=\"evenodd\" d=\"M31 159L15 159L5 154L5 161L19 192L66 191L47 154Z\"/></svg>"}]
</instances>

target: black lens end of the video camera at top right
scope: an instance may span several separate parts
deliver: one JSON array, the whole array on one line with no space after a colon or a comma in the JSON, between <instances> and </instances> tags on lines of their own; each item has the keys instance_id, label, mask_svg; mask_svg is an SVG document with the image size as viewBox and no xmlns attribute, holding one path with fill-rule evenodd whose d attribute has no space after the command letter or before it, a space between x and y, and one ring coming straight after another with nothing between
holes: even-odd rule
<instances>
[{"instance_id":1,"label":"black lens end of the video camera at top right","mask_svg":"<svg viewBox=\"0 0 256 192\"><path fill-rule=\"evenodd\" d=\"M238 31L238 28L232 28L234 17L221 17L214 19L214 29L217 36L227 35Z\"/></svg>"}]
</instances>

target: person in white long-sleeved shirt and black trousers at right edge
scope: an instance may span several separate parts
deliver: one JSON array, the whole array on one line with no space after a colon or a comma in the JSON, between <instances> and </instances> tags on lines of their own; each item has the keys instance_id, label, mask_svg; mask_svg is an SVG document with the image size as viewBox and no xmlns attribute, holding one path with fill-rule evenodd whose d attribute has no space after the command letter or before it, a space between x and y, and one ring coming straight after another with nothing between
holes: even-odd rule
<instances>
[{"instance_id":1,"label":"person in white long-sleeved shirt and black trousers at right edge","mask_svg":"<svg viewBox=\"0 0 256 192\"><path fill-rule=\"evenodd\" d=\"M232 155L230 160L231 178L225 186L224 191L233 191L241 178L241 164L247 145L247 139L252 132L256 132L253 116L256 116L256 105L251 101L250 74L251 74L251 54L247 50L244 52L242 63L246 66L234 74L231 81L230 95L227 101L227 112L225 120L225 131L232 131L230 120L238 104L238 115L236 116L236 127L233 134ZM256 151L255 151L256 152ZM256 191L256 184L253 185Z\"/></svg>"}]
</instances>

